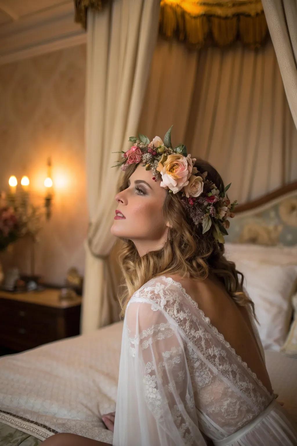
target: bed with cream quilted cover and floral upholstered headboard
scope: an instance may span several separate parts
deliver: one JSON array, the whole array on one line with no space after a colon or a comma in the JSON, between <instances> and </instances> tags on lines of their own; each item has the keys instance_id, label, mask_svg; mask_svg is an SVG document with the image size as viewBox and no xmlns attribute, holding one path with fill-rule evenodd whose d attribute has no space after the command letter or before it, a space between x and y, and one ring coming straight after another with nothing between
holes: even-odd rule
<instances>
[{"instance_id":1,"label":"bed with cream quilted cover and floral upholstered headboard","mask_svg":"<svg viewBox=\"0 0 297 446\"><path fill-rule=\"evenodd\" d=\"M237 214L226 244L231 260L246 262L242 265L247 275L255 264L257 270L275 268L273 276L286 274L280 276L285 279L279 295L265 301L263 313L263 323L269 324L269 305L279 327L264 331L263 336L267 337L265 359L273 390L297 423L297 320L291 302L297 285L297 183L242 206ZM286 289L290 290L284 297ZM116 322L87 335L1 357L0 445L34 446L57 432L112 444L113 433L106 429L102 414L113 412L116 406L122 325Z\"/></svg>"}]
</instances>

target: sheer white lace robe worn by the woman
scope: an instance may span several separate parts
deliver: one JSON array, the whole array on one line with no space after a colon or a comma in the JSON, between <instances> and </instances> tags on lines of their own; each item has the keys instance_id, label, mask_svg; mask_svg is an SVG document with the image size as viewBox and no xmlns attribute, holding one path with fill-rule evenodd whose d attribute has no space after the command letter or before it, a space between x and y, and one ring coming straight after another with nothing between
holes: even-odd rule
<instances>
[{"instance_id":1,"label":"sheer white lace robe worn by the woman","mask_svg":"<svg viewBox=\"0 0 297 446\"><path fill-rule=\"evenodd\" d=\"M155 277L131 297L122 333L114 446L204 446L202 433L214 442L225 439L276 396L179 282ZM240 440L224 444L293 446L295 435L277 403Z\"/></svg>"}]
</instances>

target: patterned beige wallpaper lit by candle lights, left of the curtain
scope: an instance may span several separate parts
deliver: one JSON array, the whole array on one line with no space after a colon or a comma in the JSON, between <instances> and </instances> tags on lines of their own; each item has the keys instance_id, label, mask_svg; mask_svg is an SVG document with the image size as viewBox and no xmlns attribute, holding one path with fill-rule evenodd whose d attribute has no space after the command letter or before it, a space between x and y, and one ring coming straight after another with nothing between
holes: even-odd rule
<instances>
[{"instance_id":1,"label":"patterned beige wallpaper lit by candle lights, left of the curtain","mask_svg":"<svg viewBox=\"0 0 297 446\"><path fill-rule=\"evenodd\" d=\"M35 269L63 284L71 266L84 273L88 216L85 182L85 45L0 66L0 190L10 175L30 178L33 201L44 194L47 157L52 157L53 215L40 232ZM29 246L17 241L0 254L4 271L30 272Z\"/></svg>"}]
</instances>

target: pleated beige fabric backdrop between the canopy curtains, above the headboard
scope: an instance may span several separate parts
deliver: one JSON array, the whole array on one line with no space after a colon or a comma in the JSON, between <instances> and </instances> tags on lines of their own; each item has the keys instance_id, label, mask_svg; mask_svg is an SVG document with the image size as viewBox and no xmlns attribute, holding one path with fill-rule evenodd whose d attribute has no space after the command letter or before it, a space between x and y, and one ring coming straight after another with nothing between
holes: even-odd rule
<instances>
[{"instance_id":1,"label":"pleated beige fabric backdrop between the canopy curtains, above the headboard","mask_svg":"<svg viewBox=\"0 0 297 446\"><path fill-rule=\"evenodd\" d=\"M174 92L174 94L172 94ZM297 180L297 130L272 41L250 50L190 51L158 38L139 131L161 136L221 173L240 203Z\"/></svg>"}]
</instances>

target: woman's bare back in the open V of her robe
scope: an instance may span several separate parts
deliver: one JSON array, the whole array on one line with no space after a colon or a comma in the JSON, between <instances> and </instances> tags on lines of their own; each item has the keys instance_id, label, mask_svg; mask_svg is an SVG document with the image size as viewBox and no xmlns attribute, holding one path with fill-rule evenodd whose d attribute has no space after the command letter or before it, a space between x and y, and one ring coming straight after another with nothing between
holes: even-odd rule
<instances>
[{"instance_id":1,"label":"woman's bare back in the open V of her robe","mask_svg":"<svg viewBox=\"0 0 297 446\"><path fill-rule=\"evenodd\" d=\"M186 293L197 303L200 310L226 341L235 349L236 354L248 364L252 372L262 381L269 392L273 392L268 372L256 341L246 307L239 306L230 297L224 286L215 277L192 279L170 275L178 281Z\"/></svg>"}]
</instances>

